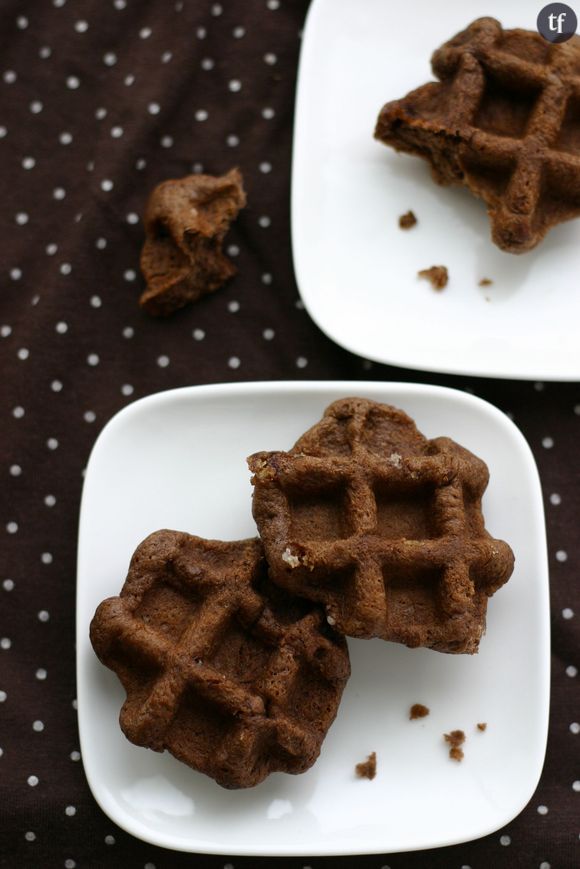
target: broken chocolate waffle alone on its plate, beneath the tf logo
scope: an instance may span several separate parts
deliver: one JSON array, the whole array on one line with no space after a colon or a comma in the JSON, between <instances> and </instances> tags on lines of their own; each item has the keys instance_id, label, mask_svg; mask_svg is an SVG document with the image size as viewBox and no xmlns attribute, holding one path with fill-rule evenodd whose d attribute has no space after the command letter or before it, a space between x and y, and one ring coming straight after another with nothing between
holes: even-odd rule
<instances>
[{"instance_id":1,"label":"broken chocolate waffle alone on its plate, beneath the tf logo","mask_svg":"<svg viewBox=\"0 0 580 869\"><path fill-rule=\"evenodd\" d=\"M495 244L535 247L580 215L580 37L479 18L431 59L430 82L380 112L375 137L484 200Z\"/></svg>"}]
</instances>

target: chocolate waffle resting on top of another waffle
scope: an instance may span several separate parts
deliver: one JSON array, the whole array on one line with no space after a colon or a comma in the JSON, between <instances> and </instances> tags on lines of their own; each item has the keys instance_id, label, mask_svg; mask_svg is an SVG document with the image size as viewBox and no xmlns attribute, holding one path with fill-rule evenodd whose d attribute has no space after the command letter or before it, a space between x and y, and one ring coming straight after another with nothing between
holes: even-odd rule
<instances>
[{"instance_id":1,"label":"chocolate waffle resting on top of another waffle","mask_svg":"<svg viewBox=\"0 0 580 869\"><path fill-rule=\"evenodd\" d=\"M513 553L485 530L488 469L389 405L345 398L289 452L249 458L272 579L354 637L476 652Z\"/></svg>"}]
</instances>

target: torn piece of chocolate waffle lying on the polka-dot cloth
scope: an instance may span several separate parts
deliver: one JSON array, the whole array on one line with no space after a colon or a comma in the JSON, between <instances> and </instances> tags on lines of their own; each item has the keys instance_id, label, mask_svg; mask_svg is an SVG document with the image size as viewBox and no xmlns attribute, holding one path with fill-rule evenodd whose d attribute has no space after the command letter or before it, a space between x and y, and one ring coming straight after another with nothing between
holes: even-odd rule
<instances>
[{"instance_id":1,"label":"torn piece of chocolate waffle lying on the polka-dot cloth","mask_svg":"<svg viewBox=\"0 0 580 869\"><path fill-rule=\"evenodd\" d=\"M141 307L166 317L231 278L236 270L222 242L245 204L237 169L220 178L188 175L159 184L145 211Z\"/></svg>"}]
</instances>

